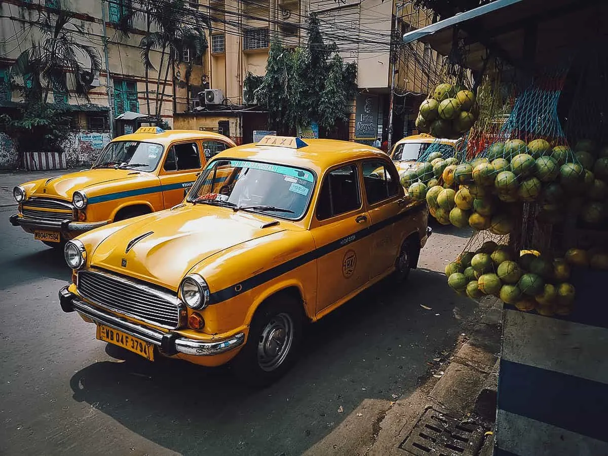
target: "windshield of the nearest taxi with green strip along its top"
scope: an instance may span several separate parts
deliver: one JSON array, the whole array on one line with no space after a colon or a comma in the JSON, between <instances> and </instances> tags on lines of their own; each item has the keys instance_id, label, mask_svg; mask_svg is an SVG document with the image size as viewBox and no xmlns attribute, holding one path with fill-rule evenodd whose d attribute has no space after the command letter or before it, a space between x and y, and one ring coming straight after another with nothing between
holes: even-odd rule
<instances>
[{"instance_id":1,"label":"windshield of the nearest taxi with green strip along its top","mask_svg":"<svg viewBox=\"0 0 608 456\"><path fill-rule=\"evenodd\" d=\"M300 168L221 159L207 165L187 201L297 220L306 213L314 181L311 171Z\"/></svg>"}]
</instances>

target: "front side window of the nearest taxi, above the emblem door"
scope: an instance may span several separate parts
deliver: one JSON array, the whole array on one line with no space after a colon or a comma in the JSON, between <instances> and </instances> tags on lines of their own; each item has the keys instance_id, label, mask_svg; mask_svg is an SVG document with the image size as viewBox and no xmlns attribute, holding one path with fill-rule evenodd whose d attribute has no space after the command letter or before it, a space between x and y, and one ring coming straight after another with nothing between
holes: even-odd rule
<instances>
[{"instance_id":1,"label":"front side window of the nearest taxi, above the emblem door","mask_svg":"<svg viewBox=\"0 0 608 456\"><path fill-rule=\"evenodd\" d=\"M357 167L337 168L326 174L317 201L317 219L325 220L361 207Z\"/></svg>"}]
</instances>

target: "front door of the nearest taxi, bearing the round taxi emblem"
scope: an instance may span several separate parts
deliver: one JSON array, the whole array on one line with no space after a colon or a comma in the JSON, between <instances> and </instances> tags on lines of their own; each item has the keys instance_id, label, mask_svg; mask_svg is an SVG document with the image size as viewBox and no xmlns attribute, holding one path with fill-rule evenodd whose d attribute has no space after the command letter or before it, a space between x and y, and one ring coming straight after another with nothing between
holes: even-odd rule
<instances>
[{"instance_id":1,"label":"front door of the nearest taxi, bearing the round taxi emblem","mask_svg":"<svg viewBox=\"0 0 608 456\"><path fill-rule=\"evenodd\" d=\"M370 278L370 217L362 204L353 162L328 171L317 196L311 233L317 246L317 313L364 286Z\"/></svg>"}]
</instances>

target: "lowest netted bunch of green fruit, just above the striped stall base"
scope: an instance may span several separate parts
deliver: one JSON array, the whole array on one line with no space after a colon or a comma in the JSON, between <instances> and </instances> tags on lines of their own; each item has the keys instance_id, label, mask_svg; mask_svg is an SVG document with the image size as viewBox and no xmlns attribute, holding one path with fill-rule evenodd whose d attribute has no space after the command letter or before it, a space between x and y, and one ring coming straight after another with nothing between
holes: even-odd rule
<instances>
[{"instance_id":1,"label":"lowest netted bunch of green fruit, just above the striped stall base","mask_svg":"<svg viewBox=\"0 0 608 456\"><path fill-rule=\"evenodd\" d=\"M573 309L575 288L568 282L570 263L564 258L536 250L516 255L505 244L486 241L447 264L445 272L448 285L472 299L494 295L521 311L545 316L565 316Z\"/></svg>"}]
</instances>

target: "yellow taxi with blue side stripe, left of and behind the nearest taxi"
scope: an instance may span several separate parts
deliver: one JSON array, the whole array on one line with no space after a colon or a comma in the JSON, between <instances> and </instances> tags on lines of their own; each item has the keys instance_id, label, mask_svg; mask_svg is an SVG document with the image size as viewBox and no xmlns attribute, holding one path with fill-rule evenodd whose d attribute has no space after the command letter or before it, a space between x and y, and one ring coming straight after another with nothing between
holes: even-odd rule
<instances>
[{"instance_id":1,"label":"yellow taxi with blue side stripe, left of and behind the nearest taxi","mask_svg":"<svg viewBox=\"0 0 608 456\"><path fill-rule=\"evenodd\" d=\"M113 139L88 170L13 189L13 226L51 247L78 234L179 204L208 159L234 147L209 131L150 126Z\"/></svg>"}]
</instances>

